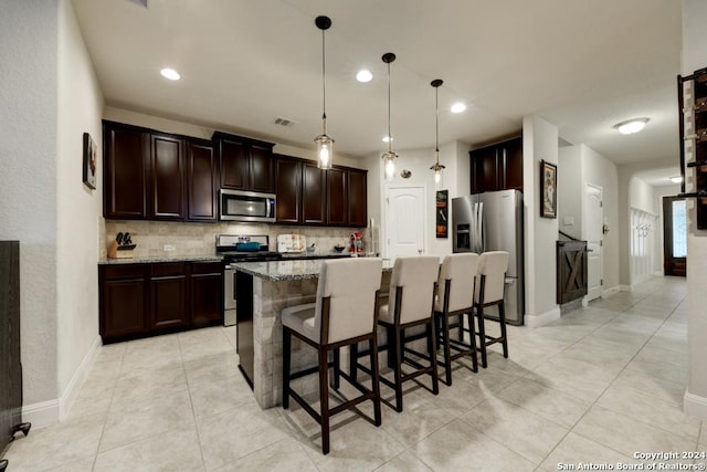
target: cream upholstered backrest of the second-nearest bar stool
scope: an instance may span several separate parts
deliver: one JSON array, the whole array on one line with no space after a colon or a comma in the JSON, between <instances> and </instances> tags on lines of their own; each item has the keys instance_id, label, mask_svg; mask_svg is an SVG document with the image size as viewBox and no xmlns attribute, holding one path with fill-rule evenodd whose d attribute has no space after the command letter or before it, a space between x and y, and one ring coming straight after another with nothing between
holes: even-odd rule
<instances>
[{"instance_id":1,"label":"cream upholstered backrest of the second-nearest bar stool","mask_svg":"<svg viewBox=\"0 0 707 472\"><path fill-rule=\"evenodd\" d=\"M394 316L400 304L400 323L412 323L432 316L434 283L440 273L440 258L414 255L395 259L390 277L388 312ZM397 289L402 287L402 300L397 300Z\"/></svg>"}]
</instances>

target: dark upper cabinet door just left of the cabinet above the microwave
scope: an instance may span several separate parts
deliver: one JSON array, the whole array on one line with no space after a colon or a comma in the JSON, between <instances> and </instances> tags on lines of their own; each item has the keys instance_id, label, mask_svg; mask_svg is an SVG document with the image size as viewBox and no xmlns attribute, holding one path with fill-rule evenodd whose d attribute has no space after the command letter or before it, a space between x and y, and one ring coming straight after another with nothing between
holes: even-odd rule
<instances>
[{"instance_id":1,"label":"dark upper cabinet door just left of the cabinet above the microwave","mask_svg":"<svg viewBox=\"0 0 707 472\"><path fill-rule=\"evenodd\" d=\"M187 143L187 219L217 221L217 161L213 147Z\"/></svg>"}]
</instances>

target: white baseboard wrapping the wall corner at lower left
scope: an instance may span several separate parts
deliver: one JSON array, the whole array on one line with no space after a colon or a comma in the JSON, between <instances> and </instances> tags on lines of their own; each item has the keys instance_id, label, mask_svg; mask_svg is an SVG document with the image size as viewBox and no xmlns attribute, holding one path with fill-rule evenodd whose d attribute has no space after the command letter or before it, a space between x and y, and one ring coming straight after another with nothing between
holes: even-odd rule
<instances>
[{"instance_id":1,"label":"white baseboard wrapping the wall corner at lower left","mask_svg":"<svg viewBox=\"0 0 707 472\"><path fill-rule=\"evenodd\" d=\"M56 424L66 418L74 398L76 398L86 375L93 366L101 345L101 336L96 336L96 339L91 345L91 348L88 348L84 359L81 361L81 365L72 376L60 398L22 407L22 421L31 422L32 428L43 428Z\"/></svg>"}]
</instances>

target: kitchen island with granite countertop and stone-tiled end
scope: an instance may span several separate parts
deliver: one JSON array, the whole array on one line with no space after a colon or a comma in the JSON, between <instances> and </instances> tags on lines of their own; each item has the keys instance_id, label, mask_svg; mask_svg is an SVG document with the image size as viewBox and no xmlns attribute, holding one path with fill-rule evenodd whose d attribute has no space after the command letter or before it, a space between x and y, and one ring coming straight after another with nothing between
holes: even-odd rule
<instances>
[{"instance_id":1,"label":"kitchen island with granite countertop and stone-tiled end","mask_svg":"<svg viewBox=\"0 0 707 472\"><path fill-rule=\"evenodd\" d=\"M253 388L261 408L282 402L283 308L313 303L324 261L268 261L234 263L236 270L236 349L239 368ZM381 292L388 292L392 263L383 261ZM295 370L313 366L316 350L293 339ZM293 382L298 391L317 391L316 376Z\"/></svg>"}]
</instances>

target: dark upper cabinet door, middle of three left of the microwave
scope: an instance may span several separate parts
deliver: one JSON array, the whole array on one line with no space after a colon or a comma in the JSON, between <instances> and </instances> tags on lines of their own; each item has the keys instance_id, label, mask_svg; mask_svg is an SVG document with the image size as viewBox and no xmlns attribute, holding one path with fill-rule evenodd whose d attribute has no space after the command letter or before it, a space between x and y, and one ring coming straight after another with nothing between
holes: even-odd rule
<instances>
[{"instance_id":1,"label":"dark upper cabinet door, middle of three left of the microwave","mask_svg":"<svg viewBox=\"0 0 707 472\"><path fill-rule=\"evenodd\" d=\"M152 135L152 204L158 220L184 220L184 159L182 140Z\"/></svg>"}]
</instances>

